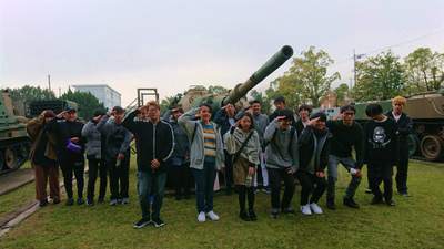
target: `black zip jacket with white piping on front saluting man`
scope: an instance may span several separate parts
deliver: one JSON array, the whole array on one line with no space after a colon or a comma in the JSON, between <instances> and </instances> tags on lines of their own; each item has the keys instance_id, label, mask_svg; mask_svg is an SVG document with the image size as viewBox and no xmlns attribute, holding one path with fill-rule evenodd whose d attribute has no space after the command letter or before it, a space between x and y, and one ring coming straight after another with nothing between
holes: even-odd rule
<instances>
[{"instance_id":1,"label":"black zip jacket with white piping on front saluting man","mask_svg":"<svg viewBox=\"0 0 444 249\"><path fill-rule=\"evenodd\" d=\"M141 172L165 172L174 149L174 135L170 124L163 121L154 126L149 121L134 121L139 110L131 112L123 120L122 126L139 137L138 169ZM158 159L159 168L152 169L151 162Z\"/></svg>"}]
</instances>

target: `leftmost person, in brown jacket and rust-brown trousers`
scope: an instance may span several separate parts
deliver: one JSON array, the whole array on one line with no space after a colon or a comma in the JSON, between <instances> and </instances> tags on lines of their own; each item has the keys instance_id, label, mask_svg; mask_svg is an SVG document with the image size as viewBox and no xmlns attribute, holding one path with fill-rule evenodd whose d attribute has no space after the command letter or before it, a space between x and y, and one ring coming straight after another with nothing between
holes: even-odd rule
<instances>
[{"instance_id":1,"label":"leftmost person, in brown jacket and rust-brown trousers","mask_svg":"<svg viewBox=\"0 0 444 249\"><path fill-rule=\"evenodd\" d=\"M47 131L46 125L54 118L51 110L43 111L38 117L27 124L28 136L31 138L29 159L34 170L36 199L39 206L48 205L47 184L49 178L50 198L60 203L59 162L57 160L56 134Z\"/></svg>"}]
</instances>

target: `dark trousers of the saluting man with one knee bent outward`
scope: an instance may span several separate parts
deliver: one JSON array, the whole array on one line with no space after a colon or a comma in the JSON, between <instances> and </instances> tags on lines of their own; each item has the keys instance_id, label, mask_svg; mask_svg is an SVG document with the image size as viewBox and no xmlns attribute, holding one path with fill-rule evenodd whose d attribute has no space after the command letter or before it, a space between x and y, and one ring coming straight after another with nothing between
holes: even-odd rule
<instances>
[{"instance_id":1,"label":"dark trousers of the saluting man with one knee bent outward","mask_svg":"<svg viewBox=\"0 0 444 249\"><path fill-rule=\"evenodd\" d=\"M342 164L347 170L350 168L354 168L356 162L353 156L350 157L339 157L335 155L329 155L329 165L327 165L327 187L326 187L326 198L334 199L335 197L335 184L337 181L337 165ZM352 176L352 180L350 180L349 187L345 190L345 198L353 198L356 193L357 187L360 186L362 180L362 176Z\"/></svg>"}]
</instances>

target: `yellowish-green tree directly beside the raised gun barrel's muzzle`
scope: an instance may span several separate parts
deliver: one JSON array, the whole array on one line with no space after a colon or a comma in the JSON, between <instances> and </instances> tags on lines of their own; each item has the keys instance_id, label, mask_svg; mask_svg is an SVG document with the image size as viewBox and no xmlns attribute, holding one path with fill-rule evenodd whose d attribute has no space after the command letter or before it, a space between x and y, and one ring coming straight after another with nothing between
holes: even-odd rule
<instances>
[{"instance_id":1,"label":"yellowish-green tree directly beside the raised gun barrel's muzzle","mask_svg":"<svg viewBox=\"0 0 444 249\"><path fill-rule=\"evenodd\" d=\"M332 76L326 76L327 66L334 63L326 52L315 52L315 48L310 46L301 55L302 58L293 58L293 65L272 83L274 90L279 90L285 97L287 107L296 107L302 103L317 107L331 83L341 79L341 75L335 72Z\"/></svg>"}]
</instances>

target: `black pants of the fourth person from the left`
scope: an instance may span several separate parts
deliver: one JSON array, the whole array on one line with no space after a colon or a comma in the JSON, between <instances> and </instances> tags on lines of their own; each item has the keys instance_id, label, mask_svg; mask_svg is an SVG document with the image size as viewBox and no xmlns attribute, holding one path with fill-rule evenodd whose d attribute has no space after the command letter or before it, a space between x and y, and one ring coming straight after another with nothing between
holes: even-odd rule
<instances>
[{"instance_id":1,"label":"black pants of the fourth person from the left","mask_svg":"<svg viewBox=\"0 0 444 249\"><path fill-rule=\"evenodd\" d=\"M130 159L123 159L119 167L115 167L115 160L107 162L107 168L108 175L110 176L111 200L128 198L128 188L130 187Z\"/></svg>"}]
</instances>

